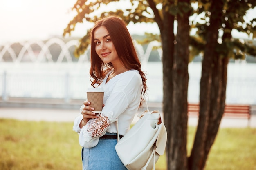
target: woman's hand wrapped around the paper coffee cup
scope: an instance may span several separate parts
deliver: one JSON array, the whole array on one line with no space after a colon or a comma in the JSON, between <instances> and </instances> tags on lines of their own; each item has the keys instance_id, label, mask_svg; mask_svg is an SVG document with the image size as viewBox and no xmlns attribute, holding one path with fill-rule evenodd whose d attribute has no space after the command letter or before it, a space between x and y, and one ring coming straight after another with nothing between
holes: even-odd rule
<instances>
[{"instance_id":1,"label":"woman's hand wrapped around the paper coffee cup","mask_svg":"<svg viewBox=\"0 0 256 170\"><path fill-rule=\"evenodd\" d=\"M98 116L96 115L96 113L93 113L92 111L94 110L93 107L90 106L91 102L89 101L85 101L83 102L83 104L85 105L83 110L82 110L82 115L83 115L83 120L80 122L79 127L82 128L83 126L85 126L87 124L87 122L89 121L89 119L92 118L98 118Z\"/></svg>"}]
</instances>

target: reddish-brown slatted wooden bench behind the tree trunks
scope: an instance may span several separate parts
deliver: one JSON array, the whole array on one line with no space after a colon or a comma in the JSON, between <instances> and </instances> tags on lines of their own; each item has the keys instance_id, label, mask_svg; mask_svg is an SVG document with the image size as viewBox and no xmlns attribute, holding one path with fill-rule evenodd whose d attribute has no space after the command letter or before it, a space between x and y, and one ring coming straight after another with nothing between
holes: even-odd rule
<instances>
[{"instance_id":1,"label":"reddish-brown slatted wooden bench behind the tree trunks","mask_svg":"<svg viewBox=\"0 0 256 170\"><path fill-rule=\"evenodd\" d=\"M189 104L188 105L188 115L198 116L199 105ZM251 119L251 106L250 105L240 105L240 104L226 104L224 109L223 117L229 118L247 118L248 122ZM248 123L249 124L249 123Z\"/></svg>"}]
</instances>

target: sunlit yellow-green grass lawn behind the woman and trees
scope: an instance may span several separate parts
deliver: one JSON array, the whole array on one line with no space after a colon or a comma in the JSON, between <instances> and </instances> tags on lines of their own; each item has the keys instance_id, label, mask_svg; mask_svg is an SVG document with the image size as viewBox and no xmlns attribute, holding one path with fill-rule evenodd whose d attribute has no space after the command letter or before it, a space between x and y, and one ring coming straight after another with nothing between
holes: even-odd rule
<instances>
[{"instance_id":1,"label":"sunlit yellow-green grass lawn behind the woman and trees","mask_svg":"<svg viewBox=\"0 0 256 170\"><path fill-rule=\"evenodd\" d=\"M81 170L81 147L72 122L0 119L0 170ZM195 127L188 130L188 154ZM205 170L256 170L256 128L222 128ZM156 170L166 170L161 156Z\"/></svg>"}]
</instances>

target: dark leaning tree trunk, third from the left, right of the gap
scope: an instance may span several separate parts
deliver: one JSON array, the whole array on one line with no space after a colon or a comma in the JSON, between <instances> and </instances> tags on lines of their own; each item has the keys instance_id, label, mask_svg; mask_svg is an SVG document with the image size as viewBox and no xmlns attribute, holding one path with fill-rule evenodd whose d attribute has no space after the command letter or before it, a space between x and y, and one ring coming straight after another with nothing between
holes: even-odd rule
<instances>
[{"instance_id":1,"label":"dark leaning tree trunk, third from the left, right of the gap","mask_svg":"<svg viewBox=\"0 0 256 170\"><path fill-rule=\"evenodd\" d=\"M202 61L202 77L200 81L200 111L198 119L198 128L195 135L193 149L189 157L189 170L202 170L204 168L205 148L207 143L207 132L209 128L210 109L211 108L211 90L213 82L214 57L218 40L218 29L221 23L223 2L222 0L212 0L210 26L207 29L207 44L204 50L204 59ZM216 60L216 59L215 59ZM217 90L218 91L218 90ZM216 108L214 108L216 109Z\"/></svg>"}]
</instances>

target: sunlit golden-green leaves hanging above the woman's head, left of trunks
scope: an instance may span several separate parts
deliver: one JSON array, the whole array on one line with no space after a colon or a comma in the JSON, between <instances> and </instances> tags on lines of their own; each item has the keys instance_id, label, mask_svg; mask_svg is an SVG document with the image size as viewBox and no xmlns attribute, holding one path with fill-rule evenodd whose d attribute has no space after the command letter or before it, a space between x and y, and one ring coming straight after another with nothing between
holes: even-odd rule
<instances>
[{"instance_id":1,"label":"sunlit golden-green leaves hanging above the woman's head, left of trunks","mask_svg":"<svg viewBox=\"0 0 256 170\"><path fill-rule=\"evenodd\" d=\"M130 8L124 9L113 9L113 11L106 11L106 7L110 4L121 2L127 4L127 7ZM117 7L118 5L116 5ZM120 6L120 5L119 5ZM124 5L123 5L124 6ZM71 34L74 31L77 23L88 23L96 22L98 18L103 18L107 15L118 15L122 18L127 24L130 22L154 22L152 16L152 10L149 8L149 5L146 0L77 0L74 4L72 10L76 11L77 15L70 21L67 27L64 29L63 36ZM102 11L100 14L97 12ZM79 57L85 52L85 50L90 45L89 39L90 30L87 30L86 35L80 40L78 48L75 50L74 55Z\"/></svg>"}]
</instances>

